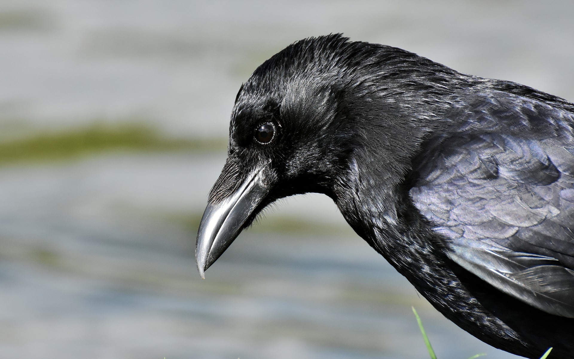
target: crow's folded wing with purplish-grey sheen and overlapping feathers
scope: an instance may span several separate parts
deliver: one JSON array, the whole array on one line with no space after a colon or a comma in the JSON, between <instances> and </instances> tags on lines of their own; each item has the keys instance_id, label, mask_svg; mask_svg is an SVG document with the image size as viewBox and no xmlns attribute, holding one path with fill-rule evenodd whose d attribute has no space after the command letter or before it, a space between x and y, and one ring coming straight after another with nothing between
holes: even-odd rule
<instances>
[{"instance_id":1,"label":"crow's folded wing with purplish-grey sheen and overlapping feathers","mask_svg":"<svg viewBox=\"0 0 574 359\"><path fill-rule=\"evenodd\" d=\"M574 318L574 114L492 92L461 101L448 119L458 125L413 162L414 205L460 266Z\"/></svg>"}]
</instances>

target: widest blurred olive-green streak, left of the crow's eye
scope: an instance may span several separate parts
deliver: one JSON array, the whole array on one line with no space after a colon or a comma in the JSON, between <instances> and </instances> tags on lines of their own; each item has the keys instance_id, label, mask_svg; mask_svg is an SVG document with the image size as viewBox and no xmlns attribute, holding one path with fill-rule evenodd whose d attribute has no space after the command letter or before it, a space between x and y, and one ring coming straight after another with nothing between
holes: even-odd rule
<instances>
[{"instance_id":1,"label":"widest blurred olive-green streak, left of the crow's eye","mask_svg":"<svg viewBox=\"0 0 574 359\"><path fill-rule=\"evenodd\" d=\"M0 141L0 165L70 160L111 151L225 151L224 138L174 139L137 123L95 123Z\"/></svg>"}]
</instances>

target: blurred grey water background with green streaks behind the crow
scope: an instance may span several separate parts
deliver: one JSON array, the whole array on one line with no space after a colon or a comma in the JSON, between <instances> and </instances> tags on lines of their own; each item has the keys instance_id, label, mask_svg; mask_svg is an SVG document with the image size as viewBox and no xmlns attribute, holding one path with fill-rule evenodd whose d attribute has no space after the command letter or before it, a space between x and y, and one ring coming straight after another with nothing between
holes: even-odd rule
<instances>
[{"instance_id":1,"label":"blurred grey water background with green streaks behind the crow","mask_svg":"<svg viewBox=\"0 0 574 359\"><path fill-rule=\"evenodd\" d=\"M201 281L242 81L343 32L574 100L571 1L0 1L0 357L514 357L444 319L296 196ZM543 330L543 329L542 329ZM550 356L552 357L552 356Z\"/></svg>"}]
</instances>

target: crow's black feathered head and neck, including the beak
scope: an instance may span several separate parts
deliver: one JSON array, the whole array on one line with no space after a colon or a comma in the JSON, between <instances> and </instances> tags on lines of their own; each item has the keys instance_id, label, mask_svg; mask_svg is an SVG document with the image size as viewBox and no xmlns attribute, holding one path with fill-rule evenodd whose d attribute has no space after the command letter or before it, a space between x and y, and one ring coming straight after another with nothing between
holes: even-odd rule
<instances>
[{"instance_id":1,"label":"crow's black feathered head and neck, including the beak","mask_svg":"<svg viewBox=\"0 0 574 359\"><path fill-rule=\"evenodd\" d=\"M201 276L277 199L319 192L341 208L374 179L399 183L448 105L453 74L340 35L298 41L259 66L237 94L227 162L201 219Z\"/></svg>"}]
</instances>

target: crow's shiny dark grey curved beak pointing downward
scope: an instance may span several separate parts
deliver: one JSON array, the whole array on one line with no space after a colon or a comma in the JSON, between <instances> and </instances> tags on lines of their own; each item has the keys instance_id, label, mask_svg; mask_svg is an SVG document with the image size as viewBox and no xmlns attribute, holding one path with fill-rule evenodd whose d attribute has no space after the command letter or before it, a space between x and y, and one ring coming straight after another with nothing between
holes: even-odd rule
<instances>
[{"instance_id":1,"label":"crow's shiny dark grey curved beak pointing downward","mask_svg":"<svg viewBox=\"0 0 574 359\"><path fill-rule=\"evenodd\" d=\"M195 247L197 269L201 278L205 279L205 270L237 238L247 219L269 193L269 186L262 182L261 173L261 168L256 169L226 199L207 204L197 231Z\"/></svg>"}]
</instances>

